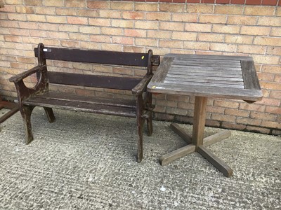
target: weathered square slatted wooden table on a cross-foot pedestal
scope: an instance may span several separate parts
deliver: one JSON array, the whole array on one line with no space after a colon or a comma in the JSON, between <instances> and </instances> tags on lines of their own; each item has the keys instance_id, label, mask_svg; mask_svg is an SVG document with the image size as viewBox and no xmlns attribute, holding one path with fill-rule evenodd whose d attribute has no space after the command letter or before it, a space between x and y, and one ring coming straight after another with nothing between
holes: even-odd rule
<instances>
[{"instance_id":1,"label":"weathered square slatted wooden table on a cross-foot pedestal","mask_svg":"<svg viewBox=\"0 0 281 210\"><path fill-rule=\"evenodd\" d=\"M205 148L230 137L230 131L224 131L204 138L207 99L242 99L249 103L261 100L261 87L251 57L167 54L148 84L148 92L195 96L192 137L171 123L172 130L189 144L163 155L159 158L161 165L197 151L224 176L233 174L225 162Z\"/></svg>"}]
</instances>

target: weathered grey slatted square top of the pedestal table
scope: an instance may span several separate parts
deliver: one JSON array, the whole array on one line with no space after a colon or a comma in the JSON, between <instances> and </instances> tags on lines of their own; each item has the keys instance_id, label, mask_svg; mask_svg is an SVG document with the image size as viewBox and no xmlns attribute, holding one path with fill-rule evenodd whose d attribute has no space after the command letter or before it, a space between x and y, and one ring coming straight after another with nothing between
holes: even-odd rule
<instances>
[{"instance_id":1,"label":"weathered grey slatted square top of the pedestal table","mask_svg":"<svg viewBox=\"0 0 281 210\"><path fill-rule=\"evenodd\" d=\"M256 102L263 94L252 57L164 55L148 92Z\"/></svg>"}]
</instances>

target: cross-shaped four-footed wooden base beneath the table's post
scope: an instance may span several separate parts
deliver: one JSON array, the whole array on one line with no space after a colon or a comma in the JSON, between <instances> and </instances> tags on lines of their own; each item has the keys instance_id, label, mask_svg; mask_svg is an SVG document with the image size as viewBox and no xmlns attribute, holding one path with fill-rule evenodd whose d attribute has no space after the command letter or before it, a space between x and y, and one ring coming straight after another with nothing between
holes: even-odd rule
<instances>
[{"instance_id":1,"label":"cross-shaped four-footed wooden base beneath the table's post","mask_svg":"<svg viewBox=\"0 0 281 210\"><path fill-rule=\"evenodd\" d=\"M162 155L159 158L159 162L162 166L168 165L170 162L178 158L182 158L183 156L196 151L196 146L191 144L192 137L187 132L185 132L185 130L182 127L178 126L176 123L171 123L170 127L174 132L176 132L176 134L178 134L178 136L180 136L183 140L185 140L188 143L188 146L183 146L182 148L179 148L176 151L173 151L166 155ZM230 137L230 135L231 132L228 130L225 130L223 132L218 132L217 134L204 138L203 145L197 146L197 152L200 153L209 162L211 162L211 164L214 165L214 167L216 167L226 177L232 176L233 169L228 167L228 165L226 165L226 163L223 162L223 160L217 158L214 154L211 153L211 151L209 151L204 146L209 146L218 141L226 139Z\"/></svg>"}]
</instances>

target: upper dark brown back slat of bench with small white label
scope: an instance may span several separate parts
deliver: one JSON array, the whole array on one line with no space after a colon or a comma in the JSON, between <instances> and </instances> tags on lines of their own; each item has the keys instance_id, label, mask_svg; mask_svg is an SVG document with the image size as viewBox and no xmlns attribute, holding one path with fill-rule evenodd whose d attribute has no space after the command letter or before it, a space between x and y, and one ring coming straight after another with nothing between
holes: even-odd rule
<instances>
[{"instance_id":1,"label":"upper dark brown back slat of bench with small white label","mask_svg":"<svg viewBox=\"0 0 281 210\"><path fill-rule=\"evenodd\" d=\"M44 59L69 62L86 62L124 66L148 66L148 53L112 52L104 50L79 50L67 48L44 48ZM38 57L38 48L34 48Z\"/></svg>"}]
</instances>

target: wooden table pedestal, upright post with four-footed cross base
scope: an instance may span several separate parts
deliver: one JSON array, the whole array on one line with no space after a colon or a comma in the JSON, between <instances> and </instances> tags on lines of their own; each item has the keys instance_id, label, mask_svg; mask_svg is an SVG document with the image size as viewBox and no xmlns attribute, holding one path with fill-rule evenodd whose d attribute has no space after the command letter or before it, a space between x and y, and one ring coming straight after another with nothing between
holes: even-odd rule
<instances>
[{"instance_id":1,"label":"wooden table pedestal, upright post with four-footed cross base","mask_svg":"<svg viewBox=\"0 0 281 210\"><path fill-rule=\"evenodd\" d=\"M171 123L171 129L176 132L182 139L188 142L188 146L179 148L176 151L163 155L159 158L161 165L167 165L178 158L188 155L193 152L200 153L204 158L211 162L224 176L230 177L233 174L233 169L228 167L225 162L217 158L205 146L214 144L217 141L230 137L230 131L223 131L217 134L204 138L204 128L206 122L207 97L195 97L195 109L192 137L175 123Z\"/></svg>"}]
</instances>

